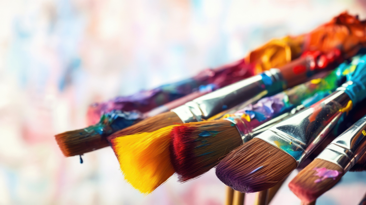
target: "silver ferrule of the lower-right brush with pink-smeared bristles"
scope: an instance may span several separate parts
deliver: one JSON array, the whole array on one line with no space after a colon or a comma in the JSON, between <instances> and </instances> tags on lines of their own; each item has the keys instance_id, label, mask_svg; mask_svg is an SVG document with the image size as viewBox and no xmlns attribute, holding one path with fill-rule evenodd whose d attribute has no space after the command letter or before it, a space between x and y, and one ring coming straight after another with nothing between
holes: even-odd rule
<instances>
[{"instance_id":1,"label":"silver ferrule of the lower-right brush with pink-smeared bristles","mask_svg":"<svg viewBox=\"0 0 366 205\"><path fill-rule=\"evenodd\" d=\"M338 164L347 172L366 152L366 116L331 142L316 159Z\"/></svg>"}]
</instances>

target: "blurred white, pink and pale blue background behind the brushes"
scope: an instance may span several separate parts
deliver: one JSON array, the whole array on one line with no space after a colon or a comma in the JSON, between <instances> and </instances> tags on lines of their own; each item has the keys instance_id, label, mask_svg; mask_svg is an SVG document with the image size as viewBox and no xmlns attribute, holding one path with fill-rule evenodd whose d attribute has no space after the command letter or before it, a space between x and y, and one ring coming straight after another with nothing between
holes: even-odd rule
<instances>
[{"instance_id":1,"label":"blurred white, pink and pale blue background behind the brushes","mask_svg":"<svg viewBox=\"0 0 366 205\"><path fill-rule=\"evenodd\" d=\"M0 0L0 205L221 205L211 170L143 196L110 147L64 158L54 135L86 126L87 106L176 82L298 35L362 0ZM289 177L272 205L295 205ZM347 173L317 205L358 204ZM252 203L254 194L246 197Z\"/></svg>"}]
</instances>

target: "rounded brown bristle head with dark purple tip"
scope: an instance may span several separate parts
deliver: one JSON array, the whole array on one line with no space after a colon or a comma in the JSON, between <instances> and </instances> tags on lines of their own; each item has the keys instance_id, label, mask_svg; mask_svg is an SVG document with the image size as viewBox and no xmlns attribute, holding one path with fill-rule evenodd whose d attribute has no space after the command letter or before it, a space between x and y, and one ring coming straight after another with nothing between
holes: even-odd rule
<instances>
[{"instance_id":1,"label":"rounded brown bristle head with dark purple tip","mask_svg":"<svg viewBox=\"0 0 366 205\"><path fill-rule=\"evenodd\" d=\"M273 187L295 168L289 154L254 138L231 151L217 165L216 176L237 191L252 193Z\"/></svg>"}]
</instances>

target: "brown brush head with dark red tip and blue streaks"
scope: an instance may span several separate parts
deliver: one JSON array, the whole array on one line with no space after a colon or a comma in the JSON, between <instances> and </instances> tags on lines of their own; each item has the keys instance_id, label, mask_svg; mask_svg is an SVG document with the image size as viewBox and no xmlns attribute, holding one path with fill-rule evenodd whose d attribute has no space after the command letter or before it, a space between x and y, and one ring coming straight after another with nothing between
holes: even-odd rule
<instances>
[{"instance_id":1,"label":"brown brush head with dark red tip and blue streaks","mask_svg":"<svg viewBox=\"0 0 366 205\"><path fill-rule=\"evenodd\" d=\"M242 143L234 124L226 120L185 123L174 127L170 154L178 181L186 182L203 175Z\"/></svg>"}]
</instances>

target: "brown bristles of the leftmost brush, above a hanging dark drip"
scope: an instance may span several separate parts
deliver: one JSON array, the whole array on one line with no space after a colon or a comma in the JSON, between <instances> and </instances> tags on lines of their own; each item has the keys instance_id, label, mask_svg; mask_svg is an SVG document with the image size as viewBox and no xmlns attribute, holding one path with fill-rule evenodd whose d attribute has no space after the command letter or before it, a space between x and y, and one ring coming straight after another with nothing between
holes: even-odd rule
<instances>
[{"instance_id":1,"label":"brown bristles of the leftmost brush, above a hanging dark drip","mask_svg":"<svg viewBox=\"0 0 366 205\"><path fill-rule=\"evenodd\" d=\"M82 155L108 146L105 138L93 130L91 132L87 132L85 129L68 131L56 135L55 138L65 157Z\"/></svg>"}]
</instances>

